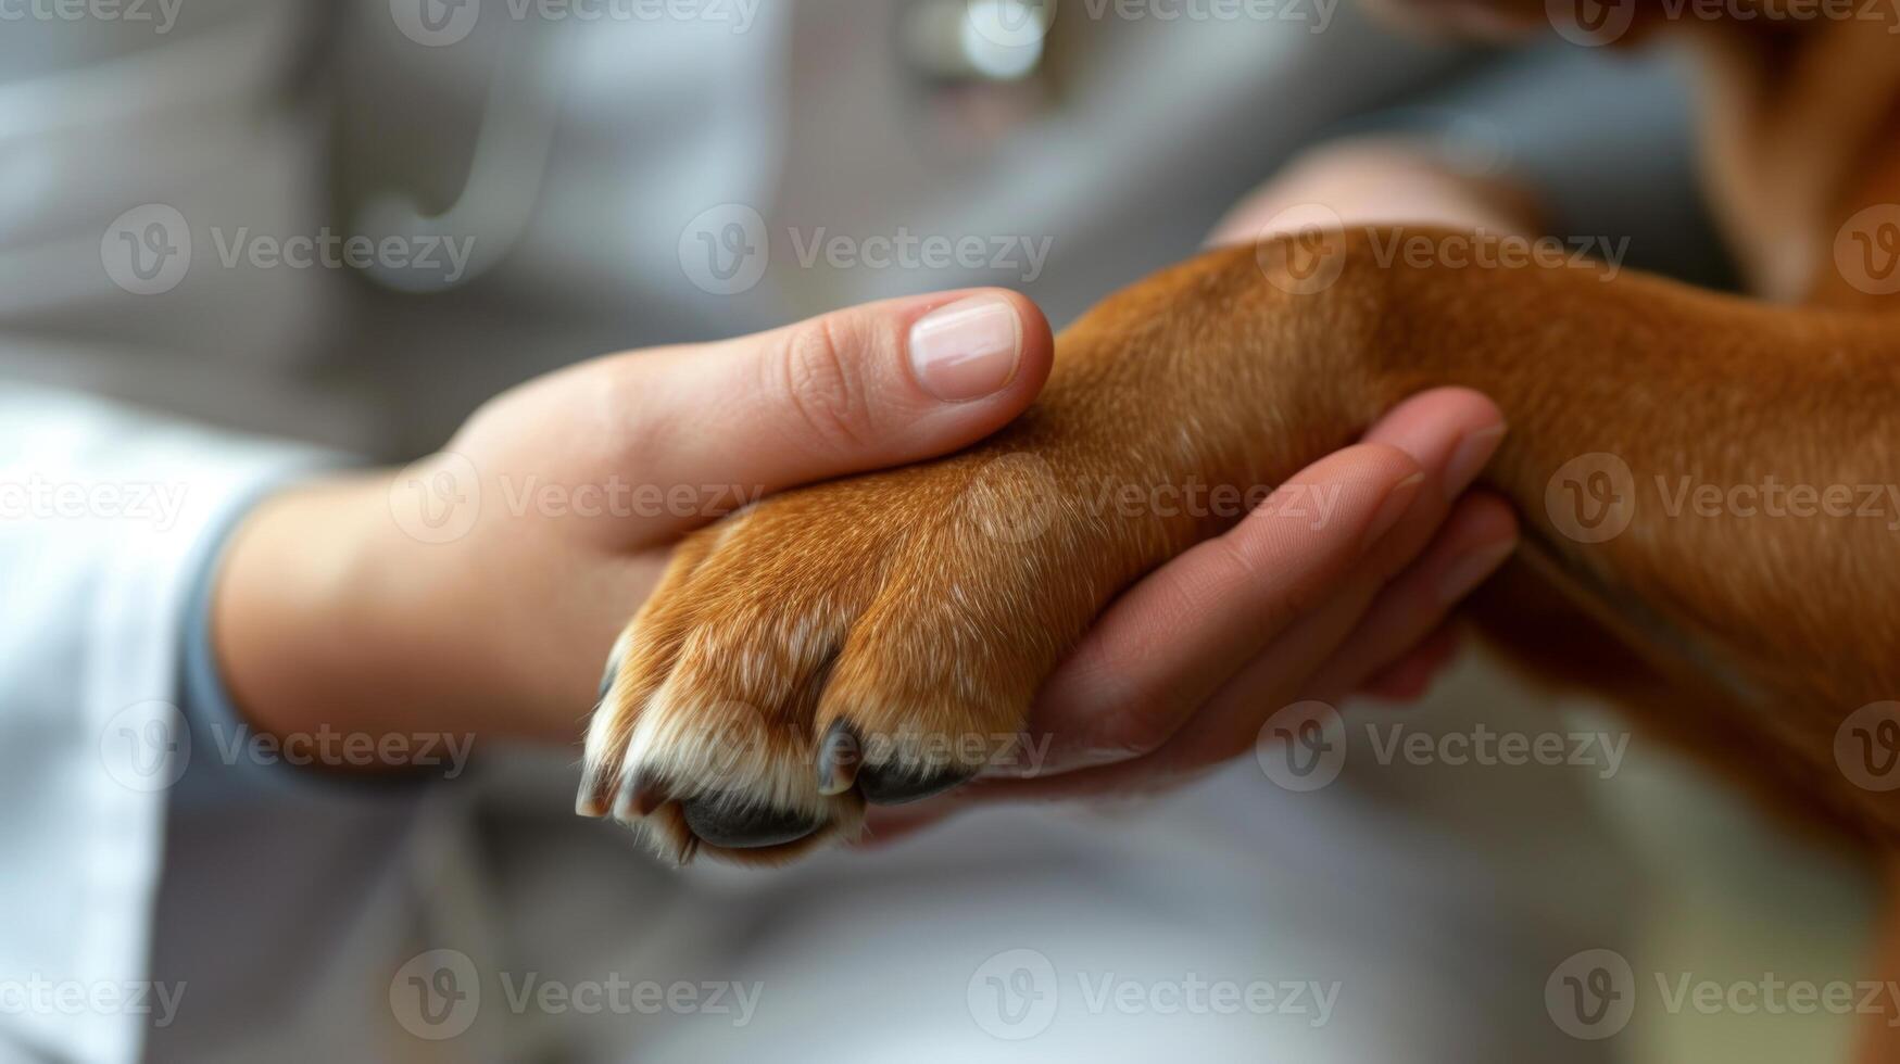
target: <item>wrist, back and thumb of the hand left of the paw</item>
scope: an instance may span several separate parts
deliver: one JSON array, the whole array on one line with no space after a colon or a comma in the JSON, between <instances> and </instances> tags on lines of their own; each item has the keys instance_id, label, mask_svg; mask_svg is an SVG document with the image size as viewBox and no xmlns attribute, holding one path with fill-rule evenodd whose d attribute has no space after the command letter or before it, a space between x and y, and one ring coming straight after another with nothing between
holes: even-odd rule
<instances>
[{"instance_id":1,"label":"wrist, back and thumb of the hand left of the paw","mask_svg":"<svg viewBox=\"0 0 1900 1064\"><path fill-rule=\"evenodd\" d=\"M969 291L528 382L408 469L253 511L217 581L218 663L279 735L576 741L684 532L969 445L1030 405L1051 350L1024 296Z\"/></svg>"}]
</instances>

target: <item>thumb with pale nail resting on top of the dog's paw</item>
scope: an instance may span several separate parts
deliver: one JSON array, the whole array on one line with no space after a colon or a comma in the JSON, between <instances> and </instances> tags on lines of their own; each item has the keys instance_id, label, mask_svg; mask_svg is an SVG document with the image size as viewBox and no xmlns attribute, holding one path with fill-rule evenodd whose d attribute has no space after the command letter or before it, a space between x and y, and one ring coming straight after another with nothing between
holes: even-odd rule
<instances>
[{"instance_id":1,"label":"thumb with pale nail resting on top of the dog's paw","mask_svg":"<svg viewBox=\"0 0 1900 1064\"><path fill-rule=\"evenodd\" d=\"M764 494L933 458L1036 399L1054 344L1026 296L978 289L838 310L718 344L616 355L602 464Z\"/></svg>"}]
</instances>

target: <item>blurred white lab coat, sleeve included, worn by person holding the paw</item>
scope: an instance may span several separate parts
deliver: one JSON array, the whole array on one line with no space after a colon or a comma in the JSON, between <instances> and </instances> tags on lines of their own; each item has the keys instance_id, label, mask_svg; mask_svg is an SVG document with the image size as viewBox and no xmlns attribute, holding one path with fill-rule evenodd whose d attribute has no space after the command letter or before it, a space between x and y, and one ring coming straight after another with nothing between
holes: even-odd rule
<instances>
[{"instance_id":1,"label":"blurred white lab coat, sleeve included, worn by person holding the paw","mask_svg":"<svg viewBox=\"0 0 1900 1064\"><path fill-rule=\"evenodd\" d=\"M201 551L251 492L332 458L182 429L76 390L401 456L439 443L494 390L602 350L961 283L1026 287L1062 319L1188 253L1288 144L1446 63L1353 28L1347 10L1328 34L1102 21L1066 57L1066 103L971 142L944 133L948 104L893 65L897 10L773 4L747 34L505 25L441 49L403 40L380 0L203 4L165 34L8 30L0 370L68 391L0 391L0 481L169 484L182 502L142 522L82 490L91 515L0 519L0 978L184 992L177 1022L156 1032L125 1005L0 1007L0 1053L1596 1058L1590 1043L1550 1037L1535 994L1510 1016L1490 994L1615 935L1588 906L1526 901L1564 897L1547 878L1598 901L1628 889L1562 787L1501 802L1556 804L1575 825L1569 859L1543 866L1499 851L1469 808L1419 849L1434 787L1370 806L1341 787L1320 802L1241 766L1112 819L996 811L887 853L750 876L663 872L625 838L572 821L560 754L395 794L249 771L198 787L194 773L218 768L203 754L169 781ZM314 51L325 34L346 51ZM559 137L545 165L483 192L467 131L509 106L488 99L496 82L528 101L526 133L517 122L507 135ZM443 129L460 133L435 142ZM340 175L340 194L325 173ZM234 268L203 238L314 232L336 198L357 218L401 215L388 190L454 217L464 184L481 200L469 224L505 251L484 251L466 296ZM137 296L103 276L99 234L152 201L188 217L201 247L177 289ZM758 205L773 232L802 238L902 218L918 232L1047 234L1054 255L1030 283L982 268L806 268L773 251L756 289L718 296L690 283L678 236L720 203ZM1423 811L1400 811L1410 804ZM1510 901L1497 902L1505 866ZM1400 895L1436 916L1395 908ZM1499 931L1499 912L1541 927L1539 946ZM405 963L441 948L475 965L486 1003L473 1034L429 1041L399 999ZM1020 1028L996 1028L971 996L984 965L1022 948L1058 992L1047 1030L1013 1041ZM756 982L764 996L745 1024L705 1009L509 1007L532 973L568 988L661 973L669 986ZM1104 973L1148 988L1338 980L1351 994L1330 1026L1199 1022L1104 1013L1091 990Z\"/></svg>"}]
</instances>

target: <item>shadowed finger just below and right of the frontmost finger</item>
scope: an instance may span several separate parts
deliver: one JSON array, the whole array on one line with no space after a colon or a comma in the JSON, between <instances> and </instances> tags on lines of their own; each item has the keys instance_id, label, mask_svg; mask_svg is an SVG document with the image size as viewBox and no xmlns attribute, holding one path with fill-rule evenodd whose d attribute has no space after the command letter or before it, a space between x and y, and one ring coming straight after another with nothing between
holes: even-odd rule
<instances>
[{"instance_id":1,"label":"shadowed finger just below and right of the frontmost finger","mask_svg":"<svg viewBox=\"0 0 1900 1064\"><path fill-rule=\"evenodd\" d=\"M1358 627L1313 674L1307 697L1338 701L1395 665L1444 625L1450 612L1518 545L1510 505L1493 496L1463 500L1412 568L1385 585Z\"/></svg>"}]
</instances>

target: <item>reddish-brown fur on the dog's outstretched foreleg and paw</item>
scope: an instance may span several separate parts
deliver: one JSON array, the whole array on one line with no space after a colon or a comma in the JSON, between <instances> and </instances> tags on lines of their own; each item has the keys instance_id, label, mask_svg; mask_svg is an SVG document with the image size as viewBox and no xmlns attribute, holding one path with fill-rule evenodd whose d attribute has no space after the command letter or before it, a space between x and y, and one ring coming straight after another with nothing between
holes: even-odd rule
<instances>
[{"instance_id":1,"label":"reddish-brown fur on the dog's outstretched foreleg and paw","mask_svg":"<svg viewBox=\"0 0 1900 1064\"><path fill-rule=\"evenodd\" d=\"M1110 597L1220 528L1106 519L1094 484L1277 484L1400 397L1463 384L1516 426L1486 481L1516 500L1554 574L1512 583L1623 635L1672 682L1645 701L1693 745L1854 828L1900 826L1900 806L1839 777L1832 747L1847 712L1900 690L1894 532L1666 513L1680 477L1900 483L1900 329L1606 268L1408 264L1393 238L1463 239L1381 228L1176 266L1058 336L1041 401L986 445L787 492L699 532L631 629L597 779L618 779L638 714L728 703L762 714L792 777L838 716L876 735L1011 735ZM1330 287L1269 283L1281 255L1313 253L1340 266ZM1628 466L1636 513L1621 536L1579 543L1547 490L1592 452ZM1520 619L1509 602L1484 612L1507 636ZM775 800L830 808L844 828L857 813L851 796Z\"/></svg>"}]
</instances>

